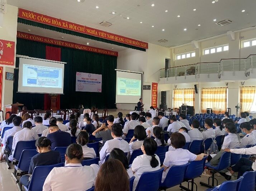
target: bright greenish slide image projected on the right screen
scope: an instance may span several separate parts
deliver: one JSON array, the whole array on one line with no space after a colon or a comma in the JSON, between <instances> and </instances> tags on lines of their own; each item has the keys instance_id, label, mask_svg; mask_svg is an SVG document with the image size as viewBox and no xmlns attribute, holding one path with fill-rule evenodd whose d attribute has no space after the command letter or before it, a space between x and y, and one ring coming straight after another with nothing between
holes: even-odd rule
<instances>
[{"instance_id":1,"label":"bright greenish slide image projected on the right screen","mask_svg":"<svg viewBox=\"0 0 256 191\"><path fill-rule=\"evenodd\" d=\"M117 78L117 95L140 96L141 80Z\"/></svg>"}]
</instances>

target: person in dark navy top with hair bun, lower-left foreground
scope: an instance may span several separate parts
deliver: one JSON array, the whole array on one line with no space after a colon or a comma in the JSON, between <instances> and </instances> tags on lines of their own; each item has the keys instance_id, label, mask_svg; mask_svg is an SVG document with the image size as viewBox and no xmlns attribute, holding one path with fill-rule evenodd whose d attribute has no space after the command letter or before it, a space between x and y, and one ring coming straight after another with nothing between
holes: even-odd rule
<instances>
[{"instance_id":1,"label":"person in dark navy top with hair bun, lower-left foreground","mask_svg":"<svg viewBox=\"0 0 256 191\"><path fill-rule=\"evenodd\" d=\"M23 175L20 178L20 184L24 186L29 186L30 176L33 173L33 170L36 166L44 165L54 165L61 163L61 155L58 151L52 151L49 149L51 146L51 141L46 137L39 137L35 141L35 146L37 147L37 155L33 156L29 165L28 175Z\"/></svg>"}]
</instances>

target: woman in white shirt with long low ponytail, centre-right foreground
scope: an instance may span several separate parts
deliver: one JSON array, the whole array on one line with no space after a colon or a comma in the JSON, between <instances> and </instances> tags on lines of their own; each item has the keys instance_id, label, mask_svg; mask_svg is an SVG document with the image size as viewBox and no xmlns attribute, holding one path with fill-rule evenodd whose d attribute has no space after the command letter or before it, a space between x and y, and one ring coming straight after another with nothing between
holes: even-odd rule
<instances>
[{"instance_id":1,"label":"woman in white shirt with long low ponytail, centre-right foreground","mask_svg":"<svg viewBox=\"0 0 256 191\"><path fill-rule=\"evenodd\" d=\"M132 162L132 171L135 176L133 191L143 172L152 172L160 169L160 159L155 154L157 143L151 138L146 138L141 146L143 155L137 156Z\"/></svg>"}]
</instances>

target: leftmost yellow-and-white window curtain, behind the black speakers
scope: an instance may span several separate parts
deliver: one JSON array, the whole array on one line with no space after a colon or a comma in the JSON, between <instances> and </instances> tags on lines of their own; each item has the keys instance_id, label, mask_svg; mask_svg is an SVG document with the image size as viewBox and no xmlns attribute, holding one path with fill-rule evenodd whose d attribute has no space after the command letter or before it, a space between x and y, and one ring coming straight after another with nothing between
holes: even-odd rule
<instances>
[{"instance_id":1,"label":"leftmost yellow-and-white window curtain, behind the black speakers","mask_svg":"<svg viewBox=\"0 0 256 191\"><path fill-rule=\"evenodd\" d=\"M195 91L194 88L175 89L173 98L173 107L179 108L182 104L194 106Z\"/></svg>"}]
</instances>

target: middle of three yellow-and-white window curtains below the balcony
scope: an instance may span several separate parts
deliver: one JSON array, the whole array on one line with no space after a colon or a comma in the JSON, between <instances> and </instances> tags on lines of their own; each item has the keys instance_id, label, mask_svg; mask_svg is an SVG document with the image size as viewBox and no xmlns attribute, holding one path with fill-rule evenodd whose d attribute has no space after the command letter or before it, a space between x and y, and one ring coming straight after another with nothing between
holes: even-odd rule
<instances>
[{"instance_id":1,"label":"middle of three yellow-and-white window curtains below the balcony","mask_svg":"<svg viewBox=\"0 0 256 191\"><path fill-rule=\"evenodd\" d=\"M215 114L222 114L227 109L227 87L202 88L202 113L212 108Z\"/></svg>"}]
</instances>

